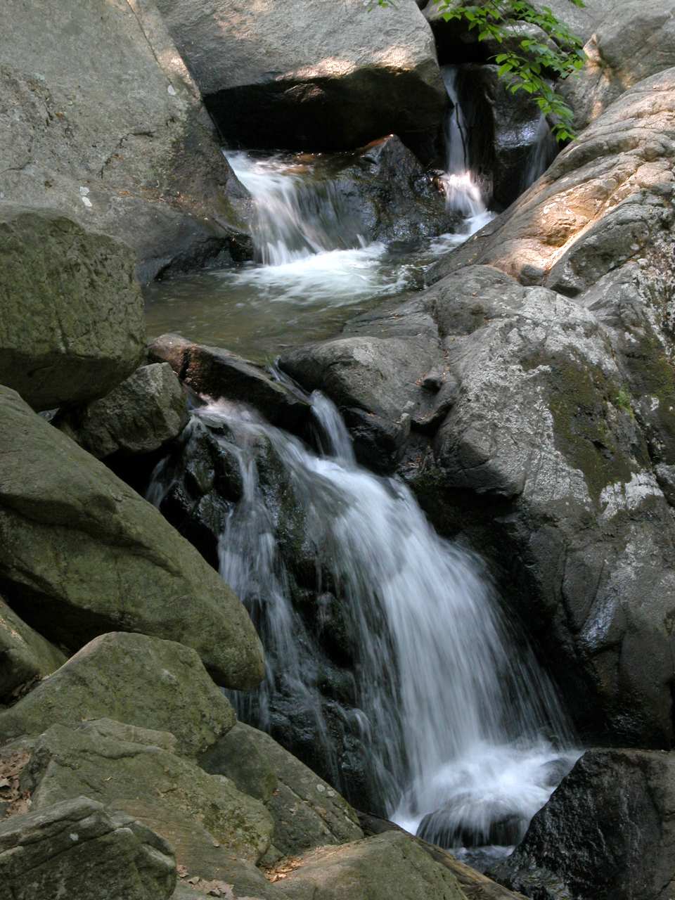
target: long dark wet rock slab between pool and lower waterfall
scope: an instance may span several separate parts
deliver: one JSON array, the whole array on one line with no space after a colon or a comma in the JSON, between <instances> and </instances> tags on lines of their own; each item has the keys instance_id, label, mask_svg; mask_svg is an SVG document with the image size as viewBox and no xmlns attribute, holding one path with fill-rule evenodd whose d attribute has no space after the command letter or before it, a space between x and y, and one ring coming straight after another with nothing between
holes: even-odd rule
<instances>
[{"instance_id":1,"label":"long dark wet rock slab between pool and lower waterfall","mask_svg":"<svg viewBox=\"0 0 675 900\"><path fill-rule=\"evenodd\" d=\"M249 403L273 425L295 431L306 423L310 405L276 382L262 365L220 347L203 347L178 335L162 335L148 348L150 360L166 362L193 391L214 400Z\"/></svg>"}]
</instances>

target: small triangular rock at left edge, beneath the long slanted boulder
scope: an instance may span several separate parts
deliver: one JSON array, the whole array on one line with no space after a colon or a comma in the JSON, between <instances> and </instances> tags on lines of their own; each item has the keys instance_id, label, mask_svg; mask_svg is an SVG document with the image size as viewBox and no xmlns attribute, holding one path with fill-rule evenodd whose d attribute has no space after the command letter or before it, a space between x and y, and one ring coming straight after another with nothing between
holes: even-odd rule
<instances>
[{"instance_id":1,"label":"small triangular rock at left edge, beneath the long slanted boulder","mask_svg":"<svg viewBox=\"0 0 675 900\"><path fill-rule=\"evenodd\" d=\"M22 622L0 598L0 703L64 662L64 653Z\"/></svg>"}]
</instances>

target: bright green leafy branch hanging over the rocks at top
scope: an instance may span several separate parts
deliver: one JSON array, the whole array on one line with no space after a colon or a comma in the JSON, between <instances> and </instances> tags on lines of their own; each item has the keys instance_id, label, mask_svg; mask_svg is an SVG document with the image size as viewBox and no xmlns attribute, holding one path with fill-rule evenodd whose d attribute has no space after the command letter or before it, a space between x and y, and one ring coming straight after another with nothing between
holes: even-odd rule
<instances>
[{"instance_id":1,"label":"bright green leafy branch hanging over the rocks at top","mask_svg":"<svg viewBox=\"0 0 675 900\"><path fill-rule=\"evenodd\" d=\"M478 30L478 40L491 40L504 45L494 56L501 77L509 80L509 90L516 94L531 94L545 116L552 119L555 137L569 140L572 130L572 109L551 86L551 78L567 78L581 69L586 55L582 41L560 22L548 6L536 8L528 0L484 0L479 4L457 4L456 0L432 0L438 5L446 21L452 19L468 23L470 30ZM570 0L583 6L583 0ZM377 0L379 6L395 6L396 0ZM514 35L518 23L536 25L544 32L536 37Z\"/></svg>"}]
</instances>

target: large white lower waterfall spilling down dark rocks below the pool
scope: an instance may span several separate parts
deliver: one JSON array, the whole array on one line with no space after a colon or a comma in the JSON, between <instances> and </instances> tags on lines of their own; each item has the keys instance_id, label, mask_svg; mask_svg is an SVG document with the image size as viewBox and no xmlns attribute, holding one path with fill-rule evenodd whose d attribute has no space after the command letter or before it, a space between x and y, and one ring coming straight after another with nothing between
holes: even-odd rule
<instances>
[{"instance_id":1,"label":"large white lower waterfall spilling down dark rocks below the pool","mask_svg":"<svg viewBox=\"0 0 675 900\"><path fill-rule=\"evenodd\" d=\"M194 410L180 452L195 468L208 432L238 468L220 572L267 659L261 689L233 695L238 715L269 729L291 708L342 789L337 741L358 742L372 794L428 840L518 842L576 758L554 691L480 558L437 536L402 482L359 467L334 405L318 393L311 403L321 454L226 401ZM148 499L160 505L178 475L160 463ZM354 683L354 702L331 703L332 718L308 626L335 629L329 608Z\"/></svg>"}]
</instances>

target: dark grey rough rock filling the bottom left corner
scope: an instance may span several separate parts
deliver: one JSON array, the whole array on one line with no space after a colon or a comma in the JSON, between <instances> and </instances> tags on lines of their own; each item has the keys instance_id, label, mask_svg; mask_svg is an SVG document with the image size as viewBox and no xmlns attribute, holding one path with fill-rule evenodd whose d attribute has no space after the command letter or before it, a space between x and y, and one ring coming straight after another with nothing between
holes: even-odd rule
<instances>
[{"instance_id":1,"label":"dark grey rough rock filling the bottom left corner","mask_svg":"<svg viewBox=\"0 0 675 900\"><path fill-rule=\"evenodd\" d=\"M128 815L76 797L0 823L0 878L13 900L168 900L168 844Z\"/></svg>"}]
</instances>

